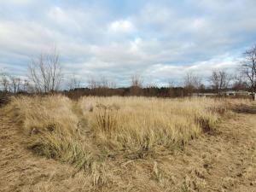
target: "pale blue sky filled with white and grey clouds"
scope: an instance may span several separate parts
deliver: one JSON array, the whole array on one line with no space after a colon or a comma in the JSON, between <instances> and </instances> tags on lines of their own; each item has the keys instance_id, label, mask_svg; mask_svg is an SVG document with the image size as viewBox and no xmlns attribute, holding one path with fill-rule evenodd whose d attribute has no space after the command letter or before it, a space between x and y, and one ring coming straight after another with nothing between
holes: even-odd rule
<instances>
[{"instance_id":1,"label":"pale blue sky filled with white and grey clouds","mask_svg":"<svg viewBox=\"0 0 256 192\"><path fill-rule=\"evenodd\" d=\"M84 84L179 84L186 73L235 73L256 43L255 0L0 0L0 70L26 77L54 47Z\"/></svg>"}]
</instances>

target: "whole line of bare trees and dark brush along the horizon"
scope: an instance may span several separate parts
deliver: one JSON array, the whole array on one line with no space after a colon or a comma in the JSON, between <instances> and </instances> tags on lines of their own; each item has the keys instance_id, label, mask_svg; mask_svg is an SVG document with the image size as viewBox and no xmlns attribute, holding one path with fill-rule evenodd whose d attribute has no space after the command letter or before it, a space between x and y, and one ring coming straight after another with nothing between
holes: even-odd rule
<instances>
[{"instance_id":1,"label":"whole line of bare trees and dark brush along the horizon","mask_svg":"<svg viewBox=\"0 0 256 192\"><path fill-rule=\"evenodd\" d=\"M221 95L224 90L248 90L256 92L256 45L247 49L236 76L224 70L212 70L206 86L203 79L195 73L187 73L183 78L183 85L158 87L154 84L143 85L140 75L131 76L128 87L117 88L116 84L107 78L89 79L86 88L81 87L81 81L73 76L68 78L66 89L61 90L63 71L60 55L56 49L50 54L41 54L34 58L27 69L27 79L20 79L8 73L0 73L2 93L11 94L49 94L62 92L67 96L191 96L193 93L214 92Z\"/></svg>"}]
</instances>

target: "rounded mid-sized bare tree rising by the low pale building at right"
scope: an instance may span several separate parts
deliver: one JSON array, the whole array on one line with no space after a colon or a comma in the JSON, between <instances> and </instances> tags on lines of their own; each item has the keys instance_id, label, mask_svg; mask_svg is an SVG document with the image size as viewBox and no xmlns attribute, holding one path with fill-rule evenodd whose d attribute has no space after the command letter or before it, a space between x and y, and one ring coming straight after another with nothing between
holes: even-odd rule
<instances>
[{"instance_id":1,"label":"rounded mid-sized bare tree rising by the low pale building at right","mask_svg":"<svg viewBox=\"0 0 256 192\"><path fill-rule=\"evenodd\" d=\"M228 87L230 83L230 75L224 70L213 70L210 82L212 83L212 88L220 95L221 91Z\"/></svg>"}]
</instances>

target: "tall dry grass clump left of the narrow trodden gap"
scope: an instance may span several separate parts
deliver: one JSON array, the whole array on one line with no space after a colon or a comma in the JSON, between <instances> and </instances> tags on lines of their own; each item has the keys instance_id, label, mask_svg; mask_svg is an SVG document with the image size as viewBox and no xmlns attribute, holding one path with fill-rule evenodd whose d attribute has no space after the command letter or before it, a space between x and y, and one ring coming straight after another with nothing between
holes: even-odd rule
<instances>
[{"instance_id":1,"label":"tall dry grass clump left of the narrow trodden gap","mask_svg":"<svg viewBox=\"0 0 256 192\"><path fill-rule=\"evenodd\" d=\"M73 107L64 96L20 97L9 106L21 122L27 148L81 168L90 165L93 155Z\"/></svg>"}]
</instances>

